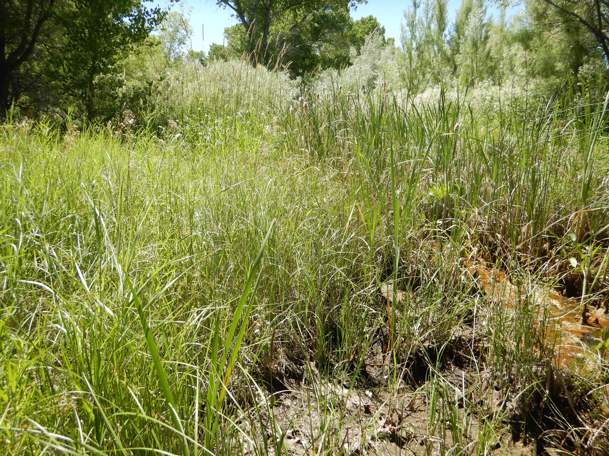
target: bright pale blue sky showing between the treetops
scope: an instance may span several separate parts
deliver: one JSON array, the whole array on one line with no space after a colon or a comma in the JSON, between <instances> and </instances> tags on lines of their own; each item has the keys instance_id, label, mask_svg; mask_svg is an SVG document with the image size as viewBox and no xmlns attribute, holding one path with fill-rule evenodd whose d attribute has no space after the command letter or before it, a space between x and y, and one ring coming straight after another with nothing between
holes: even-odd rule
<instances>
[{"instance_id":1,"label":"bright pale blue sky showing between the treetops","mask_svg":"<svg viewBox=\"0 0 609 456\"><path fill-rule=\"evenodd\" d=\"M450 0L448 3L452 17L459 7L459 2L460 0ZM192 49L194 50L208 52L211 43L222 44L224 27L237 23L230 17L230 10L218 7L215 0L185 0L183 3L187 9L192 8L190 21L194 29L192 35ZM368 0L367 4L358 5L356 10L352 10L351 16L353 19L368 15L375 16L385 27L385 37L395 38L396 43L400 43L400 24L404 18L404 10L410 3L410 0ZM178 5L174 5L173 8L178 7ZM496 12L496 9L490 8L489 12ZM203 28L204 37L202 36Z\"/></svg>"}]
</instances>

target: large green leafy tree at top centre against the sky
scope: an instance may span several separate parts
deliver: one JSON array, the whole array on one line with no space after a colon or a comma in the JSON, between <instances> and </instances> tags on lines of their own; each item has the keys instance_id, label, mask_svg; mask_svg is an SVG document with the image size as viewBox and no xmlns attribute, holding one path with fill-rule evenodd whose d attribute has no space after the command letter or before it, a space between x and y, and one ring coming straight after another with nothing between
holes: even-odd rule
<instances>
[{"instance_id":1,"label":"large green leafy tree at top centre against the sky","mask_svg":"<svg viewBox=\"0 0 609 456\"><path fill-rule=\"evenodd\" d=\"M351 48L357 55L373 32L381 35L385 43L385 28L376 18L367 16L353 21L353 1L218 4L229 5L241 22L225 30L234 57L245 54L253 64L286 67L292 77L348 66Z\"/></svg>"}]
</instances>

